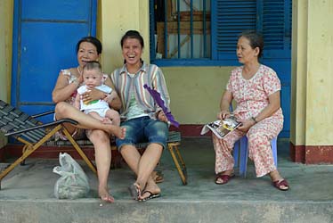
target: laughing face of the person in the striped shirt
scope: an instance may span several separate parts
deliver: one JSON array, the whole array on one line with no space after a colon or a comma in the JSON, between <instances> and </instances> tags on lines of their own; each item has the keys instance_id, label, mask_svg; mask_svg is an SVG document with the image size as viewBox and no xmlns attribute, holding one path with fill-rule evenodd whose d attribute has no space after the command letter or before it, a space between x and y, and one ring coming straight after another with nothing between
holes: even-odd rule
<instances>
[{"instance_id":1,"label":"laughing face of the person in the striped shirt","mask_svg":"<svg viewBox=\"0 0 333 223\"><path fill-rule=\"evenodd\" d=\"M142 45L136 38L126 38L123 43L123 56L127 65L141 63Z\"/></svg>"}]
</instances>

